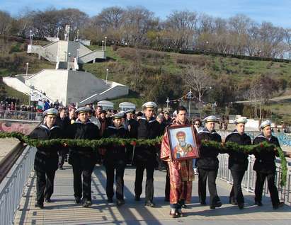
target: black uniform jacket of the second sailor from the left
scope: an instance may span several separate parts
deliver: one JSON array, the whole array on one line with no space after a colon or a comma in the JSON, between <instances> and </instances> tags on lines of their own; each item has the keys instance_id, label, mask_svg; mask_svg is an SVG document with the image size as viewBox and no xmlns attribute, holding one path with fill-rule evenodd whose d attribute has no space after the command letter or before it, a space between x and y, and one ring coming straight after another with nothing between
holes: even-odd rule
<instances>
[{"instance_id":1,"label":"black uniform jacket of the second sailor from the left","mask_svg":"<svg viewBox=\"0 0 291 225\"><path fill-rule=\"evenodd\" d=\"M93 122L88 120L86 123L82 123L79 119L76 120L72 125L68 126L67 135L69 139L99 139L99 129L97 125L94 125ZM91 147L80 147L72 146L70 147L72 154L77 154L78 156L85 156L96 161L97 152L93 151ZM74 159L73 157L71 159ZM74 163L71 161L70 163Z\"/></svg>"}]
</instances>

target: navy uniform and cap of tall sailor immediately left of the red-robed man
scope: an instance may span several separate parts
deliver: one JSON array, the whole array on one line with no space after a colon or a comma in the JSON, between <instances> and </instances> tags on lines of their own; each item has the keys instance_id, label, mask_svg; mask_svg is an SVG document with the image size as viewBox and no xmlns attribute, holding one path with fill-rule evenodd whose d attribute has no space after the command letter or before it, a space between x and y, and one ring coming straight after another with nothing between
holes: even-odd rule
<instances>
[{"instance_id":1,"label":"navy uniform and cap of tall sailor immediately left of the red-robed man","mask_svg":"<svg viewBox=\"0 0 291 225\"><path fill-rule=\"evenodd\" d=\"M142 109L156 109L157 105L153 102L144 103ZM154 139L159 136L160 124L154 117L147 120L146 117L140 117L138 120L137 139ZM156 147L139 146L135 151L135 200L139 201L142 194L142 180L144 170L147 171L147 181L145 190L145 205L154 207L154 167L156 166Z\"/></svg>"}]
</instances>

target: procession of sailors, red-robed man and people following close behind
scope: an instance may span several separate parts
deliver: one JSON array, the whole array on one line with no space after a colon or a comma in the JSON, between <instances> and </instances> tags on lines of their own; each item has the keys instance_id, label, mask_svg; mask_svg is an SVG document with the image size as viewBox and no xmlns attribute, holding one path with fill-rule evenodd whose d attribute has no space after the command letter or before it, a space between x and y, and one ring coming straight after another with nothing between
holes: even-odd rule
<instances>
[{"instance_id":1,"label":"procession of sailors, red-robed man and people following close behind","mask_svg":"<svg viewBox=\"0 0 291 225\"><path fill-rule=\"evenodd\" d=\"M219 168L218 154L229 154L229 170L234 183L229 194L229 203L239 209L244 208L244 195L241 190L241 180L248 166L249 154L244 151L222 152L220 149L202 145L202 140L221 143L220 135L215 131L217 118L208 116L204 120L188 120L186 108L179 106L170 117L168 112L156 113L157 105L147 102L142 105L142 112L135 110L118 112L103 110L100 106L93 110L92 105L81 108L50 108L43 113L42 125L30 134L34 139L103 139L103 138L135 138L155 139L162 135L161 146L104 146L93 151L91 147L81 146L39 146L35 155L35 171L37 175L37 202L35 207L44 207L44 202L51 202L55 172L62 169L66 155L69 153L68 163L72 165L74 175L74 198L83 207L92 204L91 174L96 163L102 161L106 173L106 195L108 202L113 202L113 183L116 183L116 204L125 204L124 173L127 163L133 164L135 171L135 201L140 201L142 195L142 180L146 171L145 206L155 207L154 203L154 171L159 165L166 165L165 201L171 205L170 214L173 218L183 217L182 208L190 203L192 196L193 168L198 173L198 195L200 204L206 202L206 187L210 192L210 209L222 206L216 188L217 171ZM202 127L202 121L205 127ZM192 125L191 125L192 124ZM246 119L236 120L236 129L229 134L225 142L235 142L239 145L251 145L251 138L244 132ZM193 132L198 146L199 158L173 160L166 127L193 126ZM272 135L270 121L261 124L261 134L253 140L253 144L270 142L280 146L278 139ZM178 143L183 149L185 137L179 136ZM178 135L178 134L177 134ZM275 187L275 156L278 151L253 152L256 156L253 169L256 171L255 204L262 205L263 183L268 181L268 188L273 209L283 207L278 190ZM81 179L83 177L83 179ZM206 184L207 183L207 184Z\"/></svg>"}]
</instances>

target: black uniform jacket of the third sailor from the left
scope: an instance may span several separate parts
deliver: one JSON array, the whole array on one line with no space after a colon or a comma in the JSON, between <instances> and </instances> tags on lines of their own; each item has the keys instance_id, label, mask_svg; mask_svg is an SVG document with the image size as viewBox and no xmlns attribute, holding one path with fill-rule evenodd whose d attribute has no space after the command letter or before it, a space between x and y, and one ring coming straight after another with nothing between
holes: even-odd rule
<instances>
[{"instance_id":1,"label":"black uniform jacket of the third sailor from the left","mask_svg":"<svg viewBox=\"0 0 291 225\"><path fill-rule=\"evenodd\" d=\"M109 126L105 129L104 137L117 137L117 138L128 138L129 134L125 127L113 127ZM105 152L105 161L125 161L125 146L107 146Z\"/></svg>"}]
</instances>

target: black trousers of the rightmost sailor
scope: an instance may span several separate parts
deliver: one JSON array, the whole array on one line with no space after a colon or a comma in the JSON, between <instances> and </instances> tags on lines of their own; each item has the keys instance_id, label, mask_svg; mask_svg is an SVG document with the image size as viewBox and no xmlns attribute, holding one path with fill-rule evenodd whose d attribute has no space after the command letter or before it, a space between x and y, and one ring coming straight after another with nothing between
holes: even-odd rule
<instances>
[{"instance_id":1,"label":"black trousers of the rightmost sailor","mask_svg":"<svg viewBox=\"0 0 291 225\"><path fill-rule=\"evenodd\" d=\"M273 206L280 203L278 189L275 186L275 173L261 173L256 172L256 188L255 188L255 201L262 201L263 185L267 178L268 189L270 192L270 199Z\"/></svg>"}]
</instances>

